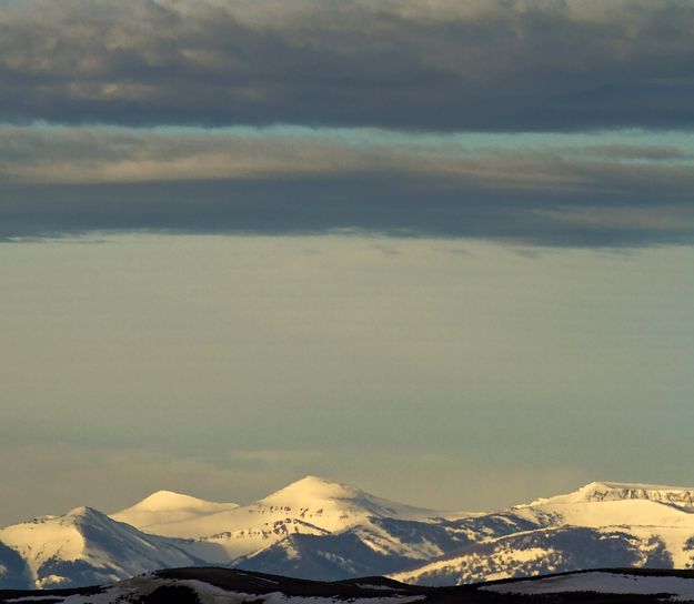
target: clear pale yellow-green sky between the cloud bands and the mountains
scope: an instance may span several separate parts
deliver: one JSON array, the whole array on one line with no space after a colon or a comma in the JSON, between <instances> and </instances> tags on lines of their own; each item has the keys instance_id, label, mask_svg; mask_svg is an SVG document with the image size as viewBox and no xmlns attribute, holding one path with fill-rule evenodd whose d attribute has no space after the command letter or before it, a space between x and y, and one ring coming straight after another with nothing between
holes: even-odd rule
<instances>
[{"instance_id":1,"label":"clear pale yellow-green sky between the cloud bands and the mountains","mask_svg":"<svg viewBox=\"0 0 694 604\"><path fill-rule=\"evenodd\" d=\"M0 524L304 474L440 509L694 484L694 250L0 244Z\"/></svg>"}]
</instances>

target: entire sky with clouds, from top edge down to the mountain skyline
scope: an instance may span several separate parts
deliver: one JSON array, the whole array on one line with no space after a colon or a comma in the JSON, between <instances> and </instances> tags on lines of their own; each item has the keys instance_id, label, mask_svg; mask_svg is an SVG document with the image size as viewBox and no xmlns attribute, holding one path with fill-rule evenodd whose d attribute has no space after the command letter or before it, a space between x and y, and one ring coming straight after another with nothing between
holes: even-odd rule
<instances>
[{"instance_id":1,"label":"entire sky with clouds, from top edge down to the mountain skyline","mask_svg":"<svg viewBox=\"0 0 694 604\"><path fill-rule=\"evenodd\" d=\"M694 484L694 2L0 0L0 525L305 474Z\"/></svg>"}]
</instances>

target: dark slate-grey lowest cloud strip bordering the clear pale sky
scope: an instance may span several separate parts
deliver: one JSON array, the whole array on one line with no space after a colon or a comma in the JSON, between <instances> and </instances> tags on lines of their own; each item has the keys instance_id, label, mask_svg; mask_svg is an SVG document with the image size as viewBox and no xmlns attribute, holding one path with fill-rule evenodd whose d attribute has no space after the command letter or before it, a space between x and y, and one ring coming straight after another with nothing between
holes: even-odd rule
<instances>
[{"instance_id":1,"label":"dark slate-grey lowest cloud strip bordering the clear pale sky","mask_svg":"<svg viewBox=\"0 0 694 604\"><path fill-rule=\"evenodd\" d=\"M490 191L452 179L341 174L1 189L0 241L92 231L481 238L555 246L694 243L677 193Z\"/></svg>"}]
</instances>

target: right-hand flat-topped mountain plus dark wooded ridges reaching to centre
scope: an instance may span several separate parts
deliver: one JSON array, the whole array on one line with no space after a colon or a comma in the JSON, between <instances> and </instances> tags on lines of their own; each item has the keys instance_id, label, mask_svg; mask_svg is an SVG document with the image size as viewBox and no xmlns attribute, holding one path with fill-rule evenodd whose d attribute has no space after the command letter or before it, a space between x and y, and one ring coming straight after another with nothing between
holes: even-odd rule
<instances>
[{"instance_id":1,"label":"right-hand flat-topped mountain plus dark wooded ridges reaching to centre","mask_svg":"<svg viewBox=\"0 0 694 604\"><path fill-rule=\"evenodd\" d=\"M233 564L322 580L390 573L426 585L595 566L692 567L692 491L591 483L491 514L378 519L320 538L291 536Z\"/></svg>"}]
</instances>

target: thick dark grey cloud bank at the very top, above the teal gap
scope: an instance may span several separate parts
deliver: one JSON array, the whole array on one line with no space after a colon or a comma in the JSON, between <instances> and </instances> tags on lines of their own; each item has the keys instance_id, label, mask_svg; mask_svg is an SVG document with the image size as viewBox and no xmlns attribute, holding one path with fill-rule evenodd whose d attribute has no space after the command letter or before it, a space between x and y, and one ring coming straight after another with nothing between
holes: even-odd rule
<instances>
[{"instance_id":1,"label":"thick dark grey cloud bank at the very top, above the teal gap","mask_svg":"<svg viewBox=\"0 0 694 604\"><path fill-rule=\"evenodd\" d=\"M0 120L691 128L677 0L0 3Z\"/></svg>"}]
</instances>

